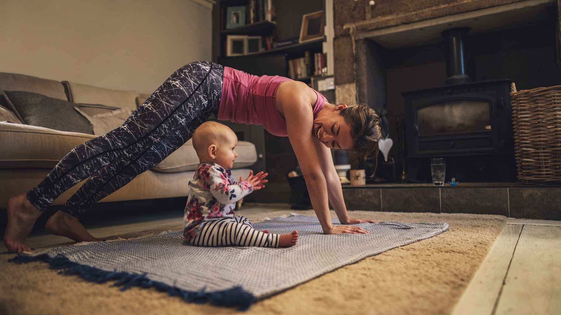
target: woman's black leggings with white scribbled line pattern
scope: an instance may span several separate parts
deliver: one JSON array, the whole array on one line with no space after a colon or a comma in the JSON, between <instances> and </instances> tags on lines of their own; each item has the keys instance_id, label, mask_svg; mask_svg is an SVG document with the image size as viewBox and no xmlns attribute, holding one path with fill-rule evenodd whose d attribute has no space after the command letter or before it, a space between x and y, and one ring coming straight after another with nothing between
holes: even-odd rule
<instances>
[{"instance_id":1,"label":"woman's black leggings with white scribbled line pattern","mask_svg":"<svg viewBox=\"0 0 561 315\"><path fill-rule=\"evenodd\" d=\"M218 114L224 68L194 62L176 70L121 127L70 151L27 199L45 210L68 188L88 178L62 211L80 216L95 202L153 168Z\"/></svg>"}]
</instances>

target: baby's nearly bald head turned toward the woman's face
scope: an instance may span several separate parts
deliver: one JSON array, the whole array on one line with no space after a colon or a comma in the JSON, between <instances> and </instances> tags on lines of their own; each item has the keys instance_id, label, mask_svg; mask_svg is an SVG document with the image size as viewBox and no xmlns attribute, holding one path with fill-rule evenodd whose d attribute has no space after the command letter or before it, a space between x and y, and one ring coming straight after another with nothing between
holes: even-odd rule
<instances>
[{"instance_id":1,"label":"baby's nearly bald head turned toward the woman's face","mask_svg":"<svg viewBox=\"0 0 561 315\"><path fill-rule=\"evenodd\" d=\"M238 137L228 126L214 121L205 122L193 133L193 147L201 163L216 163L231 169L238 157Z\"/></svg>"}]
</instances>

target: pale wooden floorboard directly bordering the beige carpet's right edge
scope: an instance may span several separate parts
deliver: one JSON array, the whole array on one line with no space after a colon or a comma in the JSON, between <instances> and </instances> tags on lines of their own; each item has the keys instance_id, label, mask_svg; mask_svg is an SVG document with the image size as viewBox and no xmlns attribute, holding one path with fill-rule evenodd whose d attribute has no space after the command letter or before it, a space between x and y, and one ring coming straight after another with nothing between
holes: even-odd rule
<instances>
[{"instance_id":1,"label":"pale wooden floorboard directly bordering the beige carpet's right edge","mask_svg":"<svg viewBox=\"0 0 561 315\"><path fill-rule=\"evenodd\" d=\"M511 224L504 227L456 304L453 315L490 315L493 312L521 230L522 225Z\"/></svg>"}]
</instances>

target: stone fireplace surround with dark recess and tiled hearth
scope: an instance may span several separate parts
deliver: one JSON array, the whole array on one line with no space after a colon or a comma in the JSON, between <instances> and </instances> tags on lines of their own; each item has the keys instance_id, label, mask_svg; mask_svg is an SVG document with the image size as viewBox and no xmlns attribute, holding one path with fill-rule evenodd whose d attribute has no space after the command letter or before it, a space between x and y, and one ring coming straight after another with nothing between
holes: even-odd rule
<instances>
[{"instance_id":1,"label":"stone fireplace surround with dark recess and tiled hearth","mask_svg":"<svg viewBox=\"0 0 561 315\"><path fill-rule=\"evenodd\" d=\"M561 85L561 0L334 0L337 103L388 111L390 151L402 92L445 85L442 31L470 27L467 61L473 80L509 78L519 90ZM469 47L469 46L468 46ZM350 101L351 100L351 101ZM357 161L351 157L351 164ZM399 173L401 174L401 168ZM561 183L388 183L344 186L349 210L498 214L561 220Z\"/></svg>"}]
</instances>

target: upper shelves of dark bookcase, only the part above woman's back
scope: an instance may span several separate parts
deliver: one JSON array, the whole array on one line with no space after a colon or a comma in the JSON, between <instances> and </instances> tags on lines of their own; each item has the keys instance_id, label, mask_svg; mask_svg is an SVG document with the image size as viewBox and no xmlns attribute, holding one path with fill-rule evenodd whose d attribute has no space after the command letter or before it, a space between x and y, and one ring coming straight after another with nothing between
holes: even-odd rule
<instances>
[{"instance_id":1,"label":"upper shelves of dark bookcase, only the part above woman's back","mask_svg":"<svg viewBox=\"0 0 561 315\"><path fill-rule=\"evenodd\" d=\"M250 8L255 8L256 6L257 9L255 10L261 12L260 15L255 12L250 13ZM273 11L261 10L260 8L263 6L265 9L271 6ZM231 15L231 8L240 7L245 7L245 15L243 17L245 18L245 25L227 28L228 24L231 24L231 18L228 19L228 16ZM300 37L303 15L315 11L324 11L325 15L324 0L307 0L305 2L301 0L220 0L215 5L215 8L217 9L217 12L214 14L215 21L213 22L215 28L215 35L213 35L213 44L215 46L213 48L213 60L215 62L227 64L228 58L252 58L256 56L284 54L287 59L286 71L266 74L291 77L294 80L310 82L311 76L317 76L319 72L321 72L322 67L319 67L320 70L316 72L315 54L323 53L323 43L326 40L325 36L302 43L300 43L298 38ZM266 12L269 12L269 14ZM251 16L254 16L253 23L250 23ZM257 20L259 18L262 20ZM242 49L242 36L250 36L252 40L255 39L256 36L257 38L260 36L261 47L259 51L256 51L255 44L249 49L247 41L245 48ZM269 41L269 43L267 43L267 41ZM291 43L291 41L295 41L295 43ZM282 47L277 47L277 45L282 45ZM313 64L313 66L308 65L306 67L309 73L302 73L302 71L300 71L301 77L289 75L288 61L304 58L306 52L309 53L310 56L309 62ZM256 62L260 61L256 60ZM321 60L319 60L319 62L321 63ZM250 72L249 69L240 68L239 70Z\"/></svg>"}]
</instances>

